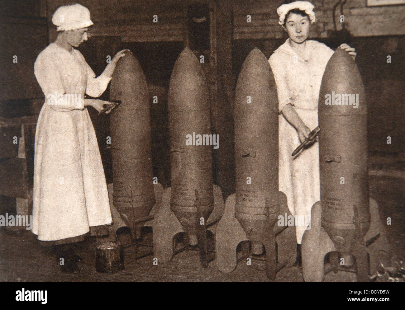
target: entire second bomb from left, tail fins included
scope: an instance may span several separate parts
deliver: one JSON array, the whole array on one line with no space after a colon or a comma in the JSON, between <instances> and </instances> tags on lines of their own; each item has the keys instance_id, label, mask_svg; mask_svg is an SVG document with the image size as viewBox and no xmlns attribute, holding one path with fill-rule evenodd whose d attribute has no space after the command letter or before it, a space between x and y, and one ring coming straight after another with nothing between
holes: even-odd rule
<instances>
[{"instance_id":1,"label":"entire second bomb from left, tail fins included","mask_svg":"<svg viewBox=\"0 0 405 310\"><path fill-rule=\"evenodd\" d=\"M212 149L219 137L211 134L211 110L203 68L187 47L181 52L168 92L171 148L171 187L153 221L153 251L160 262L173 256L173 237L181 232L197 246L208 265L206 227L218 221L224 202L213 185ZM210 217L211 215L211 217ZM212 228L211 228L212 230Z\"/></svg>"}]
</instances>

